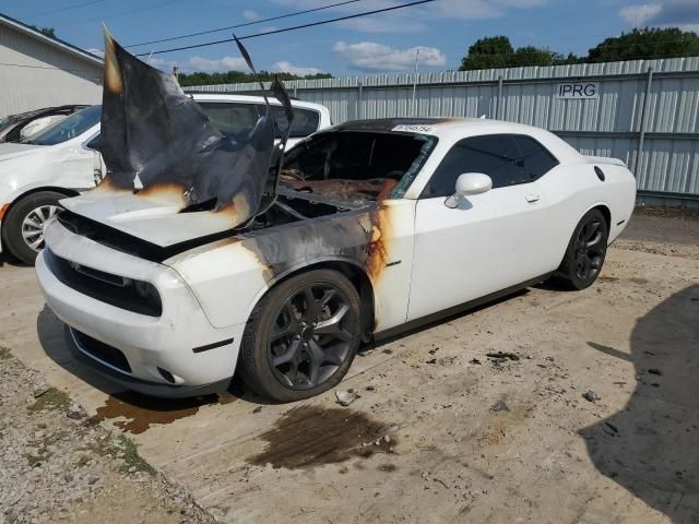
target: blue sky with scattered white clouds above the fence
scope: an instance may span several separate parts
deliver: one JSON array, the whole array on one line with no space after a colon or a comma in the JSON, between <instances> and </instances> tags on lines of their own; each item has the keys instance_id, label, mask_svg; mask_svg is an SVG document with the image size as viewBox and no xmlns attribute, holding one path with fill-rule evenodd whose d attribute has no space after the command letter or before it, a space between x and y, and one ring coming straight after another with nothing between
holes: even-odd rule
<instances>
[{"instance_id":1,"label":"blue sky with scattered white clouds above the fence","mask_svg":"<svg viewBox=\"0 0 699 524\"><path fill-rule=\"evenodd\" d=\"M413 0L356 0L272 22L263 19L342 0L0 0L0 13L54 27L70 44L99 52L102 24L125 47L253 22L238 36L307 24ZM506 35L512 45L585 55L608 36L642 26L699 32L699 0L435 0L388 13L245 41L258 70L335 76L459 68L476 39ZM230 29L161 44L128 47L150 53L230 37ZM419 49L419 52L417 50ZM247 71L233 43L143 57L170 71Z\"/></svg>"}]
</instances>

